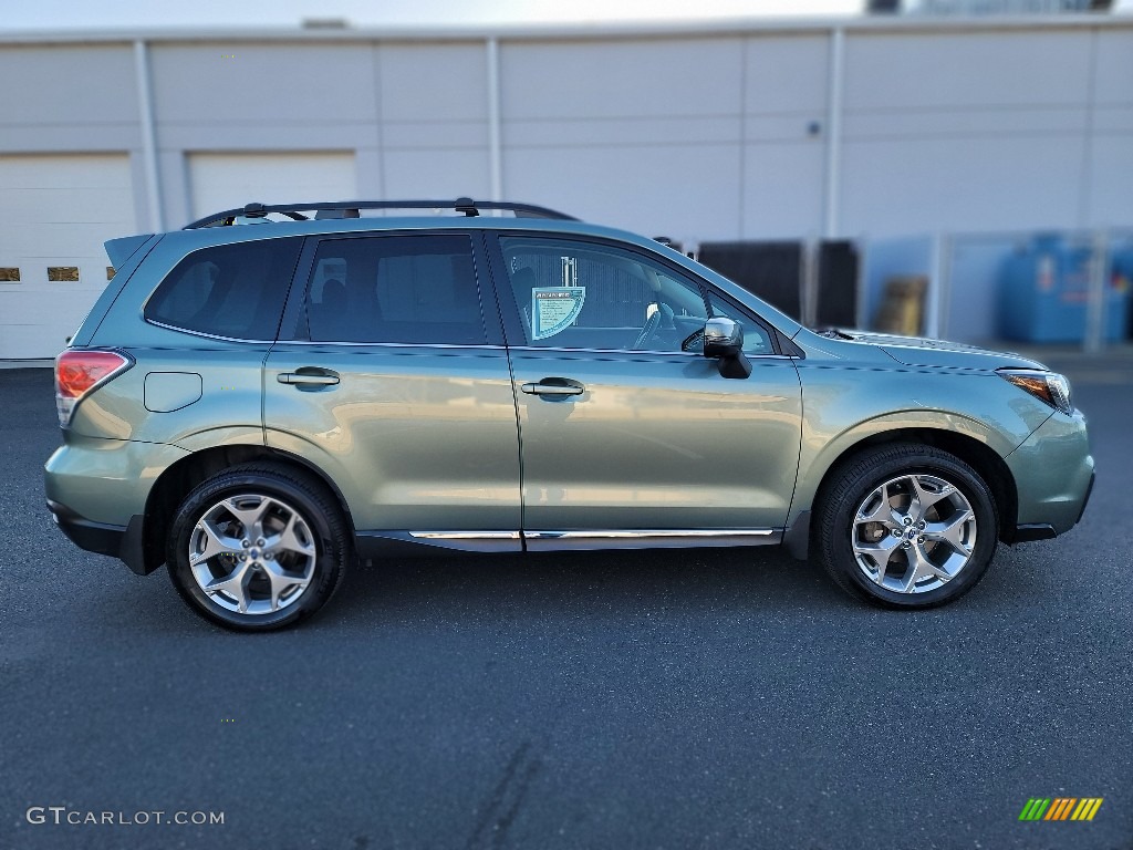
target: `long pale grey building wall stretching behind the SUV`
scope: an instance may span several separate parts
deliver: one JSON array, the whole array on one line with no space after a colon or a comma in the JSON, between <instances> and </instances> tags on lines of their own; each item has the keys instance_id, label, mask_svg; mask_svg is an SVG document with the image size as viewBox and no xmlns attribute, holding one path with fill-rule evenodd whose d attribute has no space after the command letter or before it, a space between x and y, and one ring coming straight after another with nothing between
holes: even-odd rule
<instances>
[{"instance_id":1,"label":"long pale grey building wall stretching behind the SUV","mask_svg":"<svg viewBox=\"0 0 1133 850\"><path fill-rule=\"evenodd\" d=\"M262 159L237 204L491 197L499 163L506 198L684 243L1133 224L1133 20L424 35L0 37L0 155L125 158L131 220L92 244L151 195L198 216L210 158Z\"/></svg>"}]
</instances>

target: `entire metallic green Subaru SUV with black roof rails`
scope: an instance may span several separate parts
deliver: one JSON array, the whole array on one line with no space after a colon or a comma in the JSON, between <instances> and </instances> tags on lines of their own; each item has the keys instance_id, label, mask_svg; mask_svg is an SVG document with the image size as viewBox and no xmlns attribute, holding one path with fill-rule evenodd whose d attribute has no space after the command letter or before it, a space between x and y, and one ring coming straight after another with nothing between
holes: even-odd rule
<instances>
[{"instance_id":1,"label":"entire metallic green Subaru SUV with black roof rails","mask_svg":"<svg viewBox=\"0 0 1133 850\"><path fill-rule=\"evenodd\" d=\"M783 544L928 607L1073 527L1093 481L1037 363L812 332L543 207L249 204L107 250L56 364L48 505L230 628L407 552Z\"/></svg>"}]
</instances>

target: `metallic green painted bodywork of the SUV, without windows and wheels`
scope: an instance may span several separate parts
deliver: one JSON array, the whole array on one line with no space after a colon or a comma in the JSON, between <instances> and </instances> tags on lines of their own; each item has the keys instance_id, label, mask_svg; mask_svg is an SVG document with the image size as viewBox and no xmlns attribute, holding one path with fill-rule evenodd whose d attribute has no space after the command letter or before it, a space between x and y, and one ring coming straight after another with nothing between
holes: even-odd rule
<instances>
[{"instance_id":1,"label":"metallic green painted bodywork of the SUV, without windows and wheels","mask_svg":"<svg viewBox=\"0 0 1133 850\"><path fill-rule=\"evenodd\" d=\"M123 526L144 512L153 483L176 461L218 445L266 445L322 470L358 530L783 528L807 516L824 476L863 440L937 430L1005 458L1019 492L1019 516L1005 521L1049 522L1057 532L1076 521L1093 471L1083 417L1055 414L995 373L1038 364L936 341L819 335L682 254L611 228L505 224L663 256L746 305L803 356L752 357L751 376L730 380L695 356L512 349L509 360L505 349L487 346L273 347L142 318L164 274L211 245L502 224L487 216L340 219L119 241L119 258L140 247L74 345L119 348L137 364L76 407L63 447L46 464L49 498ZM491 303L483 272L480 286ZM338 373L340 382L276 381L301 367ZM177 392L159 384L162 401L152 406L187 403L146 410L152 373L199 375L199 399L189 398L187 383ZM544 377L578 381L586 391L552 401L518 389Z\"/></svg>"}]
</instances>

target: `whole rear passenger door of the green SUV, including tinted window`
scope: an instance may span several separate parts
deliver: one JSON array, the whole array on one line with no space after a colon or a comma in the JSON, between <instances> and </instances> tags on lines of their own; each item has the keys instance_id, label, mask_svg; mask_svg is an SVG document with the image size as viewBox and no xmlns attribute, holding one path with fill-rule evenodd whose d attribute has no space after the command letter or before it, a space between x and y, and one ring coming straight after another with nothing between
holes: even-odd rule
<instances>
[{"instance_id":1,"label":"whole rear passenger door of the green SUV, including tinted window","mask_svg":"<svg viewBox=\"0 0 1133 850\"><path fill-rule=\"evenodd\" d=\"M266 441L329 473L363 537L521 545L516 405L480 245L441 230L304 250L266 363Z\"/></svg>"}]
</instances>

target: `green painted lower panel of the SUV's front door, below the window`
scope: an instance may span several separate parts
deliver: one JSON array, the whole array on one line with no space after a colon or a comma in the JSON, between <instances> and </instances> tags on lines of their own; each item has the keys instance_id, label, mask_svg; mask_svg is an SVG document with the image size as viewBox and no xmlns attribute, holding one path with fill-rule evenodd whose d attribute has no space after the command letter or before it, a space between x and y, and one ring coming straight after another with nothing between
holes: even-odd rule
<instances>
[{"instance_id":1,"label":"green painted lower panel of the SUV's front door, below the window","mask_svg":"<svg viewBox=\"0 0 1133 850\"><path fill-rule=\"evenodd\" d=\"M782 527L794 488L794 364L752 358L746 380L688 355L512 351L517 385L581 383L562 400L517 393L525 529Z\"/></svg>"}]
</instances>

